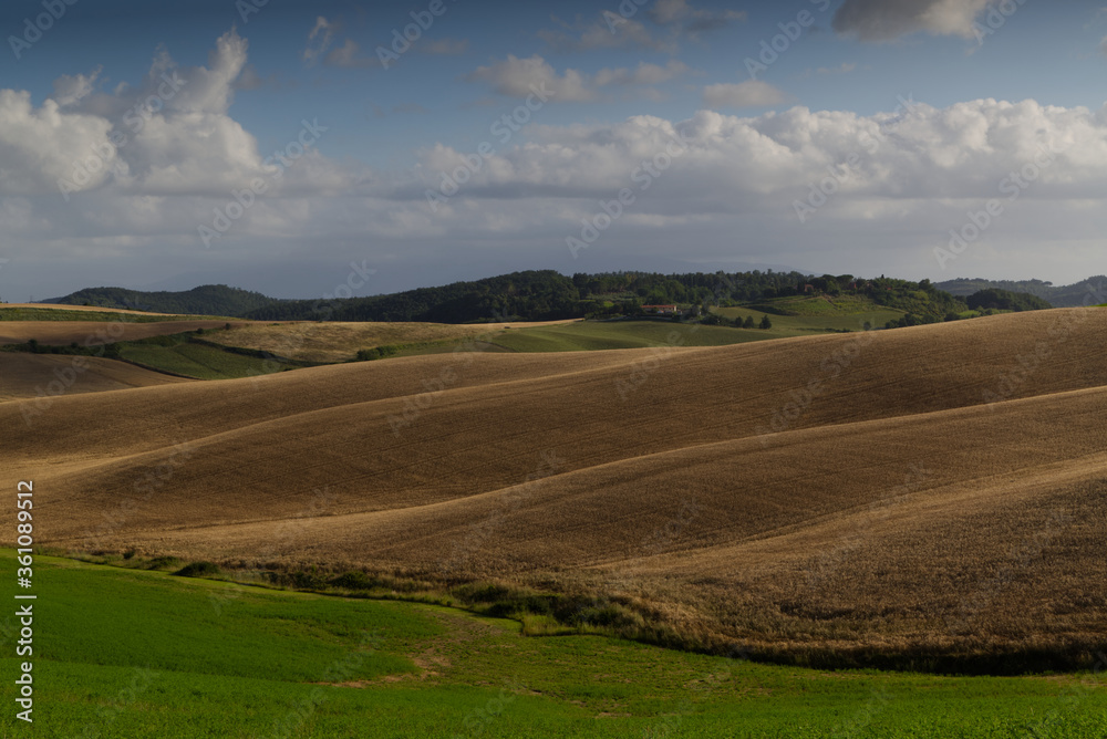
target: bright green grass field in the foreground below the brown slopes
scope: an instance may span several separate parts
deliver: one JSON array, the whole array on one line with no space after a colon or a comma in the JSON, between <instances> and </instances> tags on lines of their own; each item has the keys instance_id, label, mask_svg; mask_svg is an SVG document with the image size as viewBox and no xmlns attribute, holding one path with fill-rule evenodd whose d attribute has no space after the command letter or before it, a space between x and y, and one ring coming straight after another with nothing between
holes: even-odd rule
<instances>
[{"instance_id":1,"label":"bright green grass field in the foreground below the brown slopes","mask_svg":"<svg viewBox=\"0 0 1107 739\"><path fill-rule=\"evenodd\" d=\"M11 550L0 556L14 568ZM15 718L24 658L7 615L3 737L1107 733L1107 691L1092 676L758 665L602 636L524 637L514 621L441 606L45 556L34 583L34 725Z\"/></svg>"}]
</instances>

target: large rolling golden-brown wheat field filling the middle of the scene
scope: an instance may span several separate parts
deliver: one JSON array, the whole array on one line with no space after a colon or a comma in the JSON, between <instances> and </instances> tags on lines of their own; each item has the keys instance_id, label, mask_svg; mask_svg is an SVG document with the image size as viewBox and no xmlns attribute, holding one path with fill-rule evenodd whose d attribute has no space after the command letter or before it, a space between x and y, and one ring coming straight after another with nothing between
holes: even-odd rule
<instances>
[{"instance_id":1,"label":"large rolling golden-brown wheat field filling the middle of the scene","mask_svg":"<svg viewBox=\"0 0 1107 739\"><path fill-rule=\"evenodd\" d=\"M30 428L9 400L3 465L43 544L582 589L787 658L1080 664L1105 336L1058 310L73 394Z\"/></svg>"}]
</instances>

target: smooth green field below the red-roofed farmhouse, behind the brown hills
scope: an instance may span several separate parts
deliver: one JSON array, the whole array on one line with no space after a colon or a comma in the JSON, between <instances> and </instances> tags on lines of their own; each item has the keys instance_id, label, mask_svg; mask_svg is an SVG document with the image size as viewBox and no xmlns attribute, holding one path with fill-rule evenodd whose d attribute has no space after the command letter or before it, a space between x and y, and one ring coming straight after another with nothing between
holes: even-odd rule
<instances>
[{"instance_id":1,"label":"smooth green field below the red-roofed farmhouse, behind the brown hills","mask_svg":"<svg viewBox=\"0 0 1107 739\"><path fill-rule=\"evenodd\" d=\"M772 332L672 321L583 321L540 329L511 329L489 337L514 352L583 352L650 346L724 346L773 337Z\"/></svg>"}]
</instances>

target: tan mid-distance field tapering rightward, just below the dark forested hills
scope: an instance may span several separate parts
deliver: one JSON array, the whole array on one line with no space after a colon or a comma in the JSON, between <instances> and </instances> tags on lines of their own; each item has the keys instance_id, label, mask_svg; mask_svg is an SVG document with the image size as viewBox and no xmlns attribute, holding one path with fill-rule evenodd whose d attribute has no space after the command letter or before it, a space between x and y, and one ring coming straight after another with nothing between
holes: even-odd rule
<instances>
[{"instance_id":1,"label":"tan mid-distance field tapering rightward, just below the dark forested hills","mask_svg":"<svg viewBox=\"0 0 1107 739\"><path fill-rule=\"evenodd\" d=\"M213 342L226 346L260 350L277 356L303 362L345 362L360 348L385 344L418 344L476 339L505 329L538 327L572 323L572 321L539 321L523 323L343 323L301 322L236 326L216 334Z\"/></svg>"}]
</instances>

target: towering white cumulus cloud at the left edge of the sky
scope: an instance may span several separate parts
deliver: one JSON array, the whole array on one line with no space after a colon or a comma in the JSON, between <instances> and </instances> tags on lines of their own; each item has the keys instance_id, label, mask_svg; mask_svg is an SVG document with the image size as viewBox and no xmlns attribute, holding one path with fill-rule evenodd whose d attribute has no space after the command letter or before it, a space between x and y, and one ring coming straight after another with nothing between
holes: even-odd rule
<instances>
[{"instance_id":1,"label":"towering white cumulus cloud at the left edge of the sky","mask_svg":"<svg viewBox=\"0 0 1107 739\"><path fill-rule=\"evenodd\" d=\"M247 49L230 31L207 65L194 67L178 67L159 49L136 85L97 92L96 72L63 76L40 107L24 91L0 91L0 192L68 201L102 191L115 207L101 208L100 219L125 204L148 202L135 198L226 197L268 176L267 155L229 115ZM302 162L275 194L303 188L309 173L323 188L343 177L318 153Z\"/></svg>"}]
</instances>

